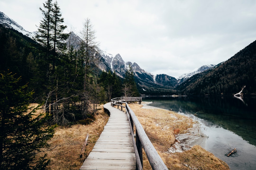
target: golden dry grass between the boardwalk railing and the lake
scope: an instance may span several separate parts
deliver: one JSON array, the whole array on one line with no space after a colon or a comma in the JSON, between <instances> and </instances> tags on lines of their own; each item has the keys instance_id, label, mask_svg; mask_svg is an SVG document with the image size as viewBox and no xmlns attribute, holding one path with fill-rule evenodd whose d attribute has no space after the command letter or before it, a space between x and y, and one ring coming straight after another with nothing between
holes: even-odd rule
<instances>
[{"instance_id":1,"label":"golden dry grass between the boardwalk railing and the lake","mask_svg":"<svg viewBox=\"0 0 256 170\"><path fill-rule=\"evenodd\" d=\"M186 133L188 128L193 127L195 122L192 119L164 109L144 109L134 103L129 106L168 169L229 169L225 162L198 145L182 153L167 152L175 142L175 134ZM143 169L152 169L144 152Z\"/></svg>"}]
</instances>

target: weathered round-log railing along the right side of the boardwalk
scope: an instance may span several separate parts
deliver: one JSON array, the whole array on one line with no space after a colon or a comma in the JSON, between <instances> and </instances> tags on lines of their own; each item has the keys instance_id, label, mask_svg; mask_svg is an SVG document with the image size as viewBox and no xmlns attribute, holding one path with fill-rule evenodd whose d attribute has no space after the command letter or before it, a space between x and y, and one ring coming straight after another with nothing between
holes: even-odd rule
<instances>
[{"instance_id":1,"label":"weathered round-log railing along the right side of the boardwalk","mask_svg":"<svg viewBox=\"0 0 256 170\"><path fill-rule=\"evenodd\" d=\"M133 99L135 99L135 97ZM138 99L138 97L136 99ZM129 100L129 101L132 101L132 100ZM125 106L122 106L123 103L125 104ZM143 167L142 148L143 148L153 170L167 170L168 168L164 164L161 157L158 155L151 141L148 139L142 125L138 121L132 109L128 106L127 102L123 102L122 97L114 98L114 99L111 99L111 106L114 106L114 105L117 105L118 107L121 106L121 110L125 108L127 118L130 124L132 136L134 136L133 132L134 132L134 126L135 126L136 142L134 137L132 138L132 140L133 140L133 146L134 146L134 151L136 156L136 169L142 170L142 167Z\"/></svg>"}]
</instances>

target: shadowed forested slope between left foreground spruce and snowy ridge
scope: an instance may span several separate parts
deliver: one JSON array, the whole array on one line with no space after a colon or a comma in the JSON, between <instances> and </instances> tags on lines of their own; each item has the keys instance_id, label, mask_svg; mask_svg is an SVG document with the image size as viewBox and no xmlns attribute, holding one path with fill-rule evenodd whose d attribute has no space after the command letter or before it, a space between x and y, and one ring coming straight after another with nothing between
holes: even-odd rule
<instances>
[{"instance_id":1,"label":"shadowed forested slope between left foreground spruce and snowy ridge","mask_svg":"<svg viewBox=\"0 0 256 170\"><path fill-rule=\"evenodd\" d=\"M29 37L1 24L0 37L0 72L9 69L18 76L22 75L19 85L29 83L28 89L34 89L34 97L40 96L45 82L45 61L42 59L45 49Z\"/></svg>"}]
</instances>

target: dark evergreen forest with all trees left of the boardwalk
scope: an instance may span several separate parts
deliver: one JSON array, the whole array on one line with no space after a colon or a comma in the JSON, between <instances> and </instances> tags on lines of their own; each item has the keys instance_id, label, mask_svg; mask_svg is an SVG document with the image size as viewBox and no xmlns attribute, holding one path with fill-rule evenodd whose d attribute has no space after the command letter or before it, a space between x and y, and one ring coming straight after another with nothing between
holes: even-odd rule
<instances>
[{"instance_id":1,"label":"dark evergreen forest with all trees left of the boardwalk","mask_svg":"<svg viewBox=\"0 0 256 170\"><path fill-rule=\"evenodd\" d=\"M124 79L96 67L98 43L90 19L74 48L58 2L47 0L38 12L36 41L0 24L1 170L45 169L49 160L35 161L35 153L48 145L56 126L89 123L99 104L140 95L131 67ZM45 114L34 117L39 108Z\"/></svg>"}]
</instances>

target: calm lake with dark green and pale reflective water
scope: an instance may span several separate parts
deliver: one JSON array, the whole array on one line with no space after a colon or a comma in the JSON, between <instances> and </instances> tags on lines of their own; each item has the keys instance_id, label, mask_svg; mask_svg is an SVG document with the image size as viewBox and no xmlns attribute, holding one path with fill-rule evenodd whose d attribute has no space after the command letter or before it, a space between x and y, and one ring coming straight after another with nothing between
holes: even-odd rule
<instances>
[{"instance_id":1,"label":"calm lake with dark green and pale reflective water","mask_svg":"<svg viewBox=\"0 0 256 170\"><path fill-rule=\"evenodd\" d=\"M205 149L230 169L256 169L256 97L150 96L142 100L200 122L202 132L209 136ZM225 156L234 148L237 153Z\"/></svg>"}]
</instances>

